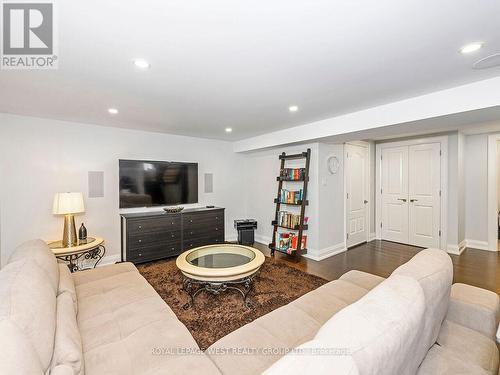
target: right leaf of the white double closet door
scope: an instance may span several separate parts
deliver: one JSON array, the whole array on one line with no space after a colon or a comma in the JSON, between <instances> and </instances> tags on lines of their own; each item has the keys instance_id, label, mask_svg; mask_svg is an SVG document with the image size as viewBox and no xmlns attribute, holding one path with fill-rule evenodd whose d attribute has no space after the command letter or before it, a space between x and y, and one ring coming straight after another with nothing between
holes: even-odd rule
<instances>
[{"instance_id":1,"label":"right leaf of the white double closet door","mask_svg":"<svg viewBox=\"0 0 500 375\"><path fill-rule=\"evenodd\" d=\"M409 147L409 243L439 248L441 146Z\"/></svg>"}]
</instances>

